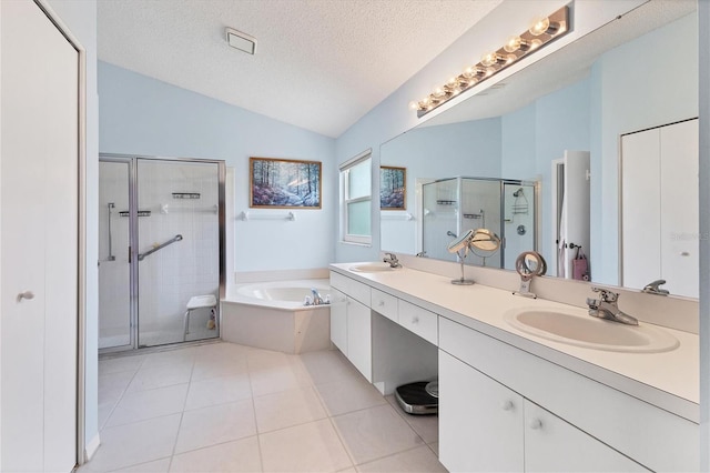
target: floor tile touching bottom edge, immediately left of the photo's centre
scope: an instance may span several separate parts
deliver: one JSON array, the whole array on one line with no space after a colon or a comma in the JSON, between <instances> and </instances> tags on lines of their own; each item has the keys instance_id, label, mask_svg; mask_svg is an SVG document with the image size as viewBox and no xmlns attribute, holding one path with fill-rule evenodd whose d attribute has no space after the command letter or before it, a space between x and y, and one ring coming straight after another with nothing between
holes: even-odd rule
<instances>
[{"instance_id":1,"label":"floor tile touching bottom edge, immediately left of the photo's centre","mask_svg":"<svg viewBox=\"0 0 710 473\"><path fill-rule=\"evenodd\" d=\"M267 472L334 472L352 465L327 419L262 434L258 441Z\"/></svg>"}]
</instances>

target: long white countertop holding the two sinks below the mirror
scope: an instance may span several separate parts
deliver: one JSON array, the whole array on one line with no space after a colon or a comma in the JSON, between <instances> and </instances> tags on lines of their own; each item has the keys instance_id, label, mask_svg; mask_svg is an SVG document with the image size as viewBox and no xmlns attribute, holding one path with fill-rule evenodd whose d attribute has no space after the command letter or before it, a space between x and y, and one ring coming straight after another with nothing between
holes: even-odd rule
<instances>
[{"instance_id":1,"label":"long white countertop holding the two sinks below the mirror","mask_svg":"<svg viewBox=\"0 0 710 473\"><path fill-rule=\"evenodd\" d=\"M332 264L331 269L658 407L699 422L700 349L696 334L662 328L678 339L680 345L661 353L610 352L569 345L519 331L504 320L504 314L514 309L542 308L586 314L585 309L548 300L520 298L509 291L481 284L455 285L450 278L407 268L367 273L349 271L349 268L357 264Z\"/></svg>"}]
</instances>

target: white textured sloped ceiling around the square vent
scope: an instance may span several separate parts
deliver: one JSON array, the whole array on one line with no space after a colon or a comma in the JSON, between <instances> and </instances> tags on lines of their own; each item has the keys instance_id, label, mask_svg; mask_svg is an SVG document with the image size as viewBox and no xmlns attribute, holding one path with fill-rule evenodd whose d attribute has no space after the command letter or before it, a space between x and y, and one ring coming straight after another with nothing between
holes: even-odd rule
<instances>
[{"instance_id":1,"label":"white textured sloped ceiling around the square vent","mask_svg":"<svg viewBox=\"0 0 710 473\"><path fill-rule=\"evenodd\" d=\"M335 138L499 2L99 0L99 59Z\"/></svg>"}]
</instances>

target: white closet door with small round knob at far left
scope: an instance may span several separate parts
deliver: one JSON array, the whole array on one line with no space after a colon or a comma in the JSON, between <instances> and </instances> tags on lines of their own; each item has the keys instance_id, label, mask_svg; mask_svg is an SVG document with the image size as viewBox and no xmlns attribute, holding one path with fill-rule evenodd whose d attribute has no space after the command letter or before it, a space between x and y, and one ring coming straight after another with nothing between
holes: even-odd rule
<instances>
[{"instance_id":1,"label":"white closet door with small round knob at far left","mask_svg":"<svg viewBox=\"0 0 710 473\"><path fill-rule=\"evenodd\" d=\"M0 470L68 472L77 460L79 56L32 1L2 1L0 17Z\"/></svg>"}]
</instances>

